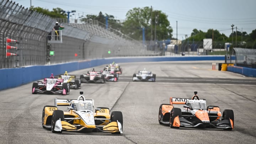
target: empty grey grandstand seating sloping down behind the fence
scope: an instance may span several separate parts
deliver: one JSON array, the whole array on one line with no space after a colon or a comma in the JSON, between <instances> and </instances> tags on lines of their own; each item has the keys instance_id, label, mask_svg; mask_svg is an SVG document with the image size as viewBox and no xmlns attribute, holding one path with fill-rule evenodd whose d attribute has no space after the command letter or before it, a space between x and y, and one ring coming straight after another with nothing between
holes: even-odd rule
<instances>
[{"instance_id":1,"label":"empty grey grandstand seating sloping down behind the fence","mask_svg":"<svg viewBox=\"0 0 256 144\"><path fill-rule=\"evenodd\" d=\"M65 23L67 25L79 28L90 33L88 40L92 38L98 39L102 43L112 45L112 51L115 56L145 56L159 55L147 50L146 46L139 41L136 41L113 28L107 28L103 23L97 20L88 20L85 23ZM104 27L105 26L105 27Z\"/></svg>"}]
</instances>

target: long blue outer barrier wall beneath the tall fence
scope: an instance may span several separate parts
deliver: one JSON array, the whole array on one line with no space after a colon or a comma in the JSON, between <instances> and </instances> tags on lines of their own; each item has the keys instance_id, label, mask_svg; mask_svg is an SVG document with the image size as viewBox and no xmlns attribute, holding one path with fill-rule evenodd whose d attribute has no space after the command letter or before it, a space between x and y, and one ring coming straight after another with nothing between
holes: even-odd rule
<instances>
[{"instance_id":1,"label":"long blue outer barrier wall beneath the tall fence","mask_svg":"<svg viewBox=\"0 0 256 144\"><path fill-rule=\"evenodd\" d=\"M55 65L38 65L23 68L0 69L2 76L0 90L27 84L29 82L41 80L50 77L50 74L59 75L64 71L75 71L80 69L91 68L98 65L132 62L161 62L161 61L190 61L190 60L225 60L224 55L220 56L191 56L191 57L122 57L122 58L105 58L84 60Z\"/></svg>"}]
</instances>

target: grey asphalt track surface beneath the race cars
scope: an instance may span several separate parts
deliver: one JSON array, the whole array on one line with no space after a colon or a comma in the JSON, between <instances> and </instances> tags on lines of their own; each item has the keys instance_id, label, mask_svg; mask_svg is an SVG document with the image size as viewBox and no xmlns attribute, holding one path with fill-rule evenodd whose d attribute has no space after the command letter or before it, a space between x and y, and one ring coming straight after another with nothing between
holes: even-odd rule
<instances>
[{"instance_id":1,"label":"grey asphalt track surface beneath the race cars","mask_svg":"<svg viewBox=\"0 0 256 144\"><path fill-rule=\"evenodd\" d=\"M82 83L80 90L70 94L33 95L32 82L0 91L0 143L1 144L252 144L256 142L256 78L229 71L212 70L212 62L148 62L121 63L123 74L118 82L106 84ZM102 66L95 70L102 70ZM133 82L132 75L139 70L152 71L156 82ZM91 69L73 71L80 75ZM64 71L63 71L64 73ZM50 76L50 74L49 74ZM95 100L95 107L108 107L122 111L123 134L108 133L52 133L42 128L42 110L54 105L54 98L77 98L79 91ZM191 98L198 91L207 105L220 107L220 111L234 111L234 130L179 128L160 125L158 111L169 97ZM182 107L182 106L176 106Z\"/></svg>"}]
</instances>

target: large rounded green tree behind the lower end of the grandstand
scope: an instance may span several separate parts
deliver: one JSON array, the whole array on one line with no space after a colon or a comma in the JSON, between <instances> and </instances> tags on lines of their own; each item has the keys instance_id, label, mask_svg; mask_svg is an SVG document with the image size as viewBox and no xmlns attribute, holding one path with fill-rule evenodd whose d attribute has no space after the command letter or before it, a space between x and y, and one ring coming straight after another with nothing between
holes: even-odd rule
<instances>
[{"instance_id":1,"label":"large rounded green tree behind the lower end of the grandstand","mask_svg":"<svg viewBox=\"0 0 256 144\"><path fill-rule=\"evenodd\" d=\"M156 39L170 39L172 28L167 20L167 15L161 11L152 11L150 7L135 7L126 14L126 21L123 23L122 32L128 36L142 40L142 29L145 29L145 39L151 39L151 21L153 28L156 27ZM154 35L154 34L153 34ZM154 38L153 38L154 39Z\"/></svg>"}]
</instances>

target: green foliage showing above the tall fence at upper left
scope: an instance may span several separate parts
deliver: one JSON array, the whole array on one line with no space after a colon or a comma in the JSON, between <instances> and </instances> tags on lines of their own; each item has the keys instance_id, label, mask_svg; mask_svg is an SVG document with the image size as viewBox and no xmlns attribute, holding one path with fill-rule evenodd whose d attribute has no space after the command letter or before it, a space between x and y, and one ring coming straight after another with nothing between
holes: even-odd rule
<instances>
[{"instance_id":1,"label":"green foliage showing above the tall fence at upper left","mask_svg":"<svg viewBox=\"0 0 256 144\"><path fill-rule=\"evenodd\" d=\"M66 18L68 15L59 7L53 8L53 11L49 11L48 9L43 9L42 7L30 7L30 10L37 11L44 15L48 15L49 17L53 18Z\"/></svg>"}]
</instances>

